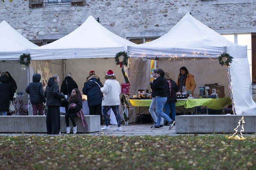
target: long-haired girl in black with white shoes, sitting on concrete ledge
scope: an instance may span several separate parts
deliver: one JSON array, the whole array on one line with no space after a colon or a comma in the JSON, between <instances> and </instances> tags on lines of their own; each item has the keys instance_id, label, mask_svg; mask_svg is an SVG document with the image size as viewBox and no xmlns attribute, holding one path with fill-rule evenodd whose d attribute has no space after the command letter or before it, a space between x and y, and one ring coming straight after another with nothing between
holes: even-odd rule
<instances>
[{"instance_id":1,"label":"long-haired girl in black with white shoes, sitting on concrete ledge","mask_svg":"<svg viewBox=\"0 0 256 170\"><path fill-rule=\"evenodd\" d=\"M77 125L75 122L75 117L77 117L77 112L83 107L82 95L78 89L73 89L71 96L69 98L69 108L68 112L65 114L65 121L67 125L67 134L70 133L71 127L69 126L69 118L73 124L73 134L77 133ZM70 104L76 104L75 108L70 108Z\"/></svg>"}]
</instances>

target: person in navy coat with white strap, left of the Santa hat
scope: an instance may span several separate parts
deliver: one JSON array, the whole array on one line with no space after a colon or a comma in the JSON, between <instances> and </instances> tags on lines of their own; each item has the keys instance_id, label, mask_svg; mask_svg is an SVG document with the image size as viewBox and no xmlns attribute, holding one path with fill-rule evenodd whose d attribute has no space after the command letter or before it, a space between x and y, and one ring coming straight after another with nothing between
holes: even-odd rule
<instances>
[{"instance_id":1,"label":"person in navy coat with white strap, left of the Santa hat","mask_svg":"<svg viewBox=\"0 0 256 170\"><path fill-rule=\"evenodd\" d=\"M100 90L101 87L102 83L98 76L96 76L95 74L91 74L86 79L83 88L83 94L87 95L90 115L100 115L100 124L102 125L101 103L103 93Z\"/></svg>"}]
</instances>

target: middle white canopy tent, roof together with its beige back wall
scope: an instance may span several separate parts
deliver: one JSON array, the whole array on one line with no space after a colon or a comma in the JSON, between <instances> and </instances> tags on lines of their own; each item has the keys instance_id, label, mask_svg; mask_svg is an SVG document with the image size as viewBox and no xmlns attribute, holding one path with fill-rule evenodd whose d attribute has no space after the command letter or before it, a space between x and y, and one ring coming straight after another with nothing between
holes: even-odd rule
<instances>
[{"instance_id":1,"label":"middle white canopy tent, roof together with its beige back wall","mask_svg":"<svg viewBox=\"0 0 256 170\"><path fill-rule=\"evenodd\" d=\"M89 16L81 26L70 34L50 44L31 48L29 52L32 60L54 60L61 63L60 59L63 59L65 66L62 70L73 74L81 91L90 70L95 71L95 74L101 78L102 83L104 83L104 77L102 76L109 69L114 71L117 81L123 82L120 67L116 66L113 57L120 51L127 51L128 45L134 44L110 32L95 18ZM33 63L31 68L36 72L37 65ZM52 73L58 73L56 71L52 70ZM60 73L58 74L60 75Z\"/></svg>"}]
</instances>

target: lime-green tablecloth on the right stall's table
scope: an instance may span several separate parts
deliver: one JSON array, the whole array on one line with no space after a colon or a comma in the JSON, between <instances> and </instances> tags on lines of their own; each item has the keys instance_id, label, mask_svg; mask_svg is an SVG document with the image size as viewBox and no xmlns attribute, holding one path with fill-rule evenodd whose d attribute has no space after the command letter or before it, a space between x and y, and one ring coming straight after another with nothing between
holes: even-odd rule
<instances>
[{"instance_id":1,"label":"lime-green tablecloth on the right stall's table","mask_svg":"<svg viewBox=\"0 0 256 170\"><path fill-rule=\"evenodd\" d=\"M150 106L152 100L134 100L131 99L129 102L132 106ZM177 100L176 106L184 106L185 108L192 108L196 106L207 106L210 109L219 110L226 105L231 104L231 99L229 97L219 98L219 99L187 99L187 100Z\"/></svg>"}]
</instances>

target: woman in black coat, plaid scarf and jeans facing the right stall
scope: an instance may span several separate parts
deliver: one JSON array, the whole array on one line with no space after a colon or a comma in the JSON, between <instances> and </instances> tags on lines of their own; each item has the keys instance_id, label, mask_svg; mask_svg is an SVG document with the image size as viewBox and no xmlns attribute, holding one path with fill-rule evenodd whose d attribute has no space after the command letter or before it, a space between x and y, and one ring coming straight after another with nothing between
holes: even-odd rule
<instances>
[{"instance_id":1,"label":"woman in black coat, plaid scarf and jeans facing the right stall","mask_svg":"<svg viewBox=\"0 0 256 170\"><path fill-rule=\"evenodd\" d=\"M179 91L179 88L176 82L171 79L171 76L169 73L166 72L164 74L164 78L167 80L169 84L169 90L167 91L167 101L164 104L165 114L175 121L175 116L176 116L175 104L177 102L176 92ZM170 116L170 110L171 110L171 116Z\"/></svg>"}]
</instances>

